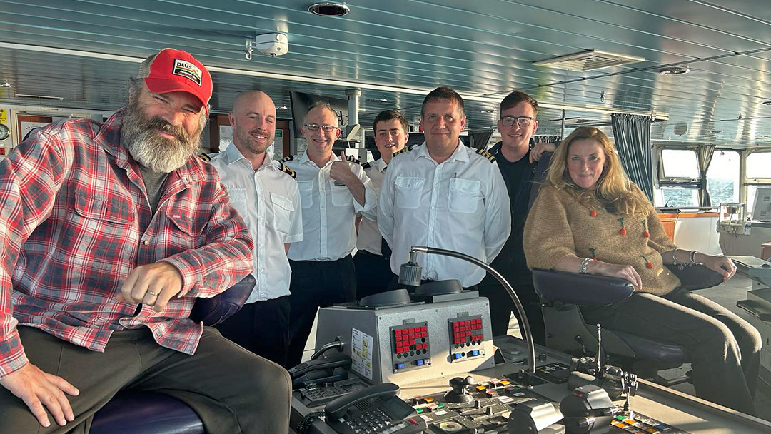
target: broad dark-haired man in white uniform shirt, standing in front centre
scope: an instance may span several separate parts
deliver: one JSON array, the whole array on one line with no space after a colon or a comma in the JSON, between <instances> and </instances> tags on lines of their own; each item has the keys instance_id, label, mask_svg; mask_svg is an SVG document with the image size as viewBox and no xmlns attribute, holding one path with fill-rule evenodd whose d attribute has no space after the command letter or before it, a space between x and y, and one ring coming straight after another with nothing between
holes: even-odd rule
<instances>
[{"instance_id":1,"label":"broad dark-haired man in white uniform shirt, standing in front centre","mask_svg":"<svg viewBox=\"0 0 771 434\"><path fill-rule=\"evenodd\" d=\"M509 237L506 184L494 157L460 142L466 127L463 99L449 87L434 89L420 111L426 142L394 155L380 192L378 227L392 247L399 273L412 245L459 251L488 264ZM423 280L457 279L463 288L485 271L453 257L419 254Z\"/></svg>"}]
</instances>

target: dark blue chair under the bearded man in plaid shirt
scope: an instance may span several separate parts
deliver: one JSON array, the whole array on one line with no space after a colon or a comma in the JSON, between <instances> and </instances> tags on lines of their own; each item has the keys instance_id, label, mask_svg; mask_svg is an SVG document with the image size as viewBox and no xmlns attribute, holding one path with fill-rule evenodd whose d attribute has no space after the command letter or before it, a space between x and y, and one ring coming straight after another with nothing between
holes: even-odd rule
<instances>
[{"instance_id":1,"label":"dark blue chair under the bearded man in plaid shirt","mask_svg":"<svg viewBox=\"0 0 771 434\"><path fill-rule=\"evenodd\" d=\"M224 321L244 305L254 277L249 275L212 298L199 298L190 318L204 325ZM204 424L184 402L157 392L119 392L94 415L91 434L204 434Z\"/></svg>"}]
</instances>

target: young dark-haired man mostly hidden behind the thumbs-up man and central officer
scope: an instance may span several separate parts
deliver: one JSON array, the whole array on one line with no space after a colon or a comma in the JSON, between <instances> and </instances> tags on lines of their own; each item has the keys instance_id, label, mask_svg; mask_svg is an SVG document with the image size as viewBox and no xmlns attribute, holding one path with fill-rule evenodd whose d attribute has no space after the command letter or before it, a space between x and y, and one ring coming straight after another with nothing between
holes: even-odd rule
<instances>
[{"instance_id":1,"label":"young dark-haired man mostly hidden behind the thumbs-up man and central officer","mask_svg":"<svg viewBox=\"0 0 771 434\"><path fill-rule=\"evenodd\" d=\"M380 192L385 170L394 153L402 150L409 139L409 122L396 110L384 110L372 122L375 132L375 146L380 158L372 163L362 164L364 172L372 181L372 187ZM359 238L353 263L356 267L356 299L385 291L391 283L391 248L383 242L377 220L359 218Z\"/></svg>"}]
</instances>

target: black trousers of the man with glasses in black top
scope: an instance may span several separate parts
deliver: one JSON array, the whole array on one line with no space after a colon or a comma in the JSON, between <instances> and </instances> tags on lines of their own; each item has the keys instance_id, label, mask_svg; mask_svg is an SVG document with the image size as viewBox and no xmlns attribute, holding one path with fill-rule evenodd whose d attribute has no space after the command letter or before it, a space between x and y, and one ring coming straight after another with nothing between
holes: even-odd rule
<instances>
[{"instance_id":1,"label":"black trousers of the man with glasses in black top","mask_svg":"<svg viewBox=\"0 0 771 434\"><path fill-rule=\"evenodd\" d=\"M509 293L495 280L495 278L486 276L478 287L480 296L490 300L490 321L493 322L493 336L507 334L507 331L509 330L509 318L512 312L514 313L514 316L517 317L517 321L522 321ZM545 345L546 326L544 325L544 312L540 309L540 300L535 293L533 283L512 284L511 287L520 299L525 315L527 315L527 321L530 323L530 331L533 334L533 340L537 344Z\"/></svg>"}]
</instances>

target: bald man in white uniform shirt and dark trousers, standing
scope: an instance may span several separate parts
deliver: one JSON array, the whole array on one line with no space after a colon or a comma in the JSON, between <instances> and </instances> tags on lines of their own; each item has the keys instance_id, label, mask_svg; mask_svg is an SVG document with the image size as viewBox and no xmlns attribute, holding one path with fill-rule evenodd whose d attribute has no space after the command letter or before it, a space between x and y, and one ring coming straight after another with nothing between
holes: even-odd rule
<instances>
[{"instance_id":1,"label":"bald man in white uniform shirt and dark trousers, standing","mask_svg":"<svg viewBox=\"0 0 771 434\"><path fill-rule=\"evenodd\" d=\"M233 143L210 163L254 239L252 275L257 284L241 311L217 328L224 337L283 366L291 278L286 252L290 243L302 240L300 192L291 169L271 161L265 152L276 131L273 100L257 90L241 93L230 120Z\"/></svg>"}]
</instances>

